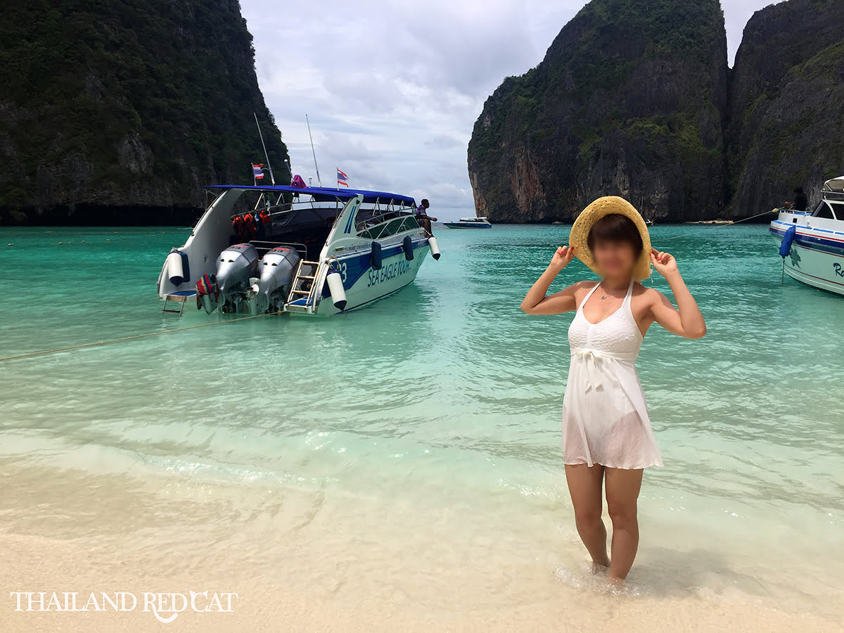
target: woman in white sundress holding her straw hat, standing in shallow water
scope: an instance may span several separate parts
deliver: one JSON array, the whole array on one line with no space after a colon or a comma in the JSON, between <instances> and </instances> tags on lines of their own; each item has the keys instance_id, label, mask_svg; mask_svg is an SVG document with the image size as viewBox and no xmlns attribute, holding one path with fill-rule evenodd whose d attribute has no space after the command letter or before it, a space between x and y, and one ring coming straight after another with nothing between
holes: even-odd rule
<instances>
[{"instance_id":1,"label":"woman in white sundress holding her straw hat, standing in shallow water","mask_svg":"<svg viewBox=\"0 0 844 633\"><path fill-rule=\"evenodd\" d=\"M573 257L600 281L579 281L548 295ZM668 281L677 307L657 289L639 283L650 276L651 265ZM636 505L642 473L663 465L636 373L642 338L654 322L684 338L701 338L706 322L677 260L651 247L636 208L614 196L583 210L571 227L569 246L557 249L527 292L522 310L533 315L576 311L569 327L571 365L562 414L565 479L593 571L606 569L611 582L623 582L639 544ZM609 555L602 488L613 525Z\"/></svg>"}]
</instances>

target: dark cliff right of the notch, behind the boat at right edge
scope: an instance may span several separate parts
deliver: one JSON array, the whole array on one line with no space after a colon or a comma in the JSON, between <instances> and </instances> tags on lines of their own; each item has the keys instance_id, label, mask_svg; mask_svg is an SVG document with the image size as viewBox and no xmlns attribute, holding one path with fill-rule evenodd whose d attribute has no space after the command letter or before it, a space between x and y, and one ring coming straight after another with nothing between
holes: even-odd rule
<instances>
[{"instance_id":1,"label":"dark cliff right of the notch, behind the boat at right edge","mask_svg":"<svg viewBox=\"0 0 844 633\"><path fill-rule=\"evenodd\" d=\"M844 173L844 3L789 0L744 28L730 81L728 214L810 201Z\"/></svg>"}]
</instances>

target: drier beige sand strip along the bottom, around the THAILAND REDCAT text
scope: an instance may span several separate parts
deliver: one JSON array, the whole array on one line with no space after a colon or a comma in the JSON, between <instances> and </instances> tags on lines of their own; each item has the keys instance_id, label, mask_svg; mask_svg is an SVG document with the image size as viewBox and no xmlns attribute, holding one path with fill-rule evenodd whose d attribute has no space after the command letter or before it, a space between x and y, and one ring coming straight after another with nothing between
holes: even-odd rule
<instances>
[{"instance_id":1,"label":"drier beige sand strip along the bottom, around the THAILAND REDCAT text","mask_svg":"<svg viewBox=\"0 0 844 633\"><path fill-rule=\"evenodd\" d=\"M81 546L80 546L81 545ZM0 630L625 630L631 632L662 630L759 630L759 631L840 631L830 620L809 614L788 614L760 605L717 602L706 599L631 598L625 596L581 593L560 583L547 582L538 587L535 598L521 605L492 607L473 603L472 573L465 570L468 585L430 587L420 584L418 592L408 594L398 588L383 587L376 595L361 592L354 584L334 587L305 587L292 582L279 584L252 577L244 565L237 578L219 580L213 569L195 570L176 576L160 565L144 560L122 559L121 553L108 550L93 552L73 541L5 535L0 538L3 551L0 586L3 608ZM238 552L231 551L236 556ZM330 567L319 551L302 551L291 565ZM329 570L326 570L330 574ZM215 578L217 578L215 580ZM100 612L62 613L57 611L15 612L8 591L18 587L78 588L85 593L103 587L138 587L138 607L118 613L110 607ZM142 589L152 592L185 592L192 587L202 592L215 587L237 592L230 613L181 612L169 624L155 619L151 609L143 611ZM554 595L554 594L557 595ZM79 604L81 605L81 600ZM197 608L203 608L197 604ZM225 608L225 603L223 603ZM25 609L25 602L24 602ZM161 612L162 617L169 613Z\"/></svg>"}]
</instances>

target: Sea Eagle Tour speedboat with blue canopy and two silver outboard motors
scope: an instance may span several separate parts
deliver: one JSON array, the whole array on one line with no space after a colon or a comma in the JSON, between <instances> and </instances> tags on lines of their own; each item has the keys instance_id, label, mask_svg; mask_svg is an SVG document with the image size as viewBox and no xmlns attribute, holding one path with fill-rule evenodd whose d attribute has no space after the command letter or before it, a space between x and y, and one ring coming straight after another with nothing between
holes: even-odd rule
<instances>
[{"instance_id":1,"label":"Sea Eagle Tour speedboat with blue canopy and two silver outboard motors","mask_svg":"<svg viewBox=\"0 0 844 633\"><path fill-rule=\"evenodd\" d=\"M213 202L161 268L162 311L181 314L195 299L208 314L332 315L392 295L429 253L440 258L412 197L274 185L206 190Z\"/></svg>"}]
</instances>

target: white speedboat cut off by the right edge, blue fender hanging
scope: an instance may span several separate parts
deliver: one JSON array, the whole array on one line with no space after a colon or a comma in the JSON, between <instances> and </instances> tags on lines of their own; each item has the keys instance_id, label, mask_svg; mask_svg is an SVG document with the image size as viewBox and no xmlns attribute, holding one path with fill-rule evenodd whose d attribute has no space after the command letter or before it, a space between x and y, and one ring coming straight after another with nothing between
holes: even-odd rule
<instances>
[{"instance_id":1,"label":"white speedboat cut off by the right edge, blue fender hanging","mask_svg":"<svg viewBox=\"0 0 844 633\"><path fill-rule=\"evenodd\" d=\"M778 209L770 230L789 277L844 295L844 176L825 182L814 211Z\"/></svg>"}]
</instances>

